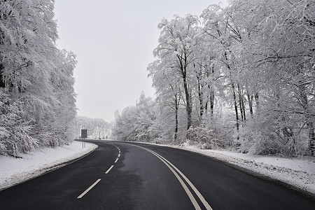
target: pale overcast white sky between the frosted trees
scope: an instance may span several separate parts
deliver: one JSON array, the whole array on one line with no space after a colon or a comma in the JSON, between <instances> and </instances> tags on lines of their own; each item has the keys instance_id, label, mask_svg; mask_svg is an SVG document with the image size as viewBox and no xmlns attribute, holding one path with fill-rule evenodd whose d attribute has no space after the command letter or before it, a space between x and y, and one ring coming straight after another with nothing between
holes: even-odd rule
<instances>
[{"instance_id":1,"label":"pale overcast white sky between the frosted trees","mask_svg":"<svg viewBox=\"0 0 315 210\"><path fill-rule=\"evenodd\" d=\"M146 68L154 61L162 18L200 15L227 0L55 0L58 48L72 50L78 116L114 120L141 91L155 97Z\"/></svg>"}]
</instances>

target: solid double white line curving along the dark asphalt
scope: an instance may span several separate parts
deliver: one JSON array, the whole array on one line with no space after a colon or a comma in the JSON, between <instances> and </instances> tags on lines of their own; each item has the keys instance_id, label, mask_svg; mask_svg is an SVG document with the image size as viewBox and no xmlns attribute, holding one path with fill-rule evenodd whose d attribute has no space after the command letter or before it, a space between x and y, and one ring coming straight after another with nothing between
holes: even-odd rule
<instances>
[{"instance_id":1,"label":"solid double white line curving along the dark asphalt","mask_svg":"<svg viewBox=\"0 0 315 210\"><path fill-rule=\"evenodd\" d=\"M133 144L133 146L136 146ZM172 165L171 162L169 162L168 160L166 160L165 158L163 158L161 155L159 155L158 153L155 153L151 150L149 150L148 148L144 148L141 146L137 146L139 148L143 148L144 150L152 153L153 155L155 155L156 157L158 157L165 165L167 165L167 167L173 172L173 174L176 176L176 178L179 180L179 182L181 183L181 186L183 186L184 190L186 191L188 197L190 198L190 201L193 203L195 209L201 209L200 205L197 203L197 201L195 200L195 197L193 196L193 193L190 192L188 186L186 186L186 183L183 181L183 179L185 179L185 181L188 183L188 185L190 186L190 188L192 188L195 192L195 194L197 195L197 197L199 197L200 201L202 202L202 204L204 204L204 207L206 207L206 209L208 210L212 210L212 208L210 207L210 205L208 204L208 202L204 199L204 197L201 195L201 193L197 190L197 188L195 188L195 186L193 185L193 183L191 183L189 181L189 179L178 169L176 168L174 165ZM176 173L176 172L177 173ZM181 175L181 176L179 176ZM183 179L181 179L181 177L183 177Z\"/></svg>"}]
</instances>

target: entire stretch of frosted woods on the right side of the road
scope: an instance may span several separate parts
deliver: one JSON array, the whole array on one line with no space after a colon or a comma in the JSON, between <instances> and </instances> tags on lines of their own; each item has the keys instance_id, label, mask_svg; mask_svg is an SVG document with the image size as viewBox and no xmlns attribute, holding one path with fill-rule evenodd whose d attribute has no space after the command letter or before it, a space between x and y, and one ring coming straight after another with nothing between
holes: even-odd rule
<instances>
[{"instance_id":1,"label":"entire stretch of frosted woods on the right side of the road","mask_svg":"<svg viewBox=\"0 0 315 210\"><path fill-rule=\"evenodd\" d=\"M116 139L315 155L314 0L235 0L158 29L156 99L116 111Z\"/></svg>"}]
</instances>

